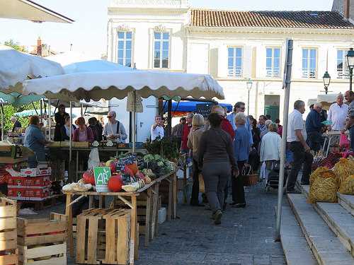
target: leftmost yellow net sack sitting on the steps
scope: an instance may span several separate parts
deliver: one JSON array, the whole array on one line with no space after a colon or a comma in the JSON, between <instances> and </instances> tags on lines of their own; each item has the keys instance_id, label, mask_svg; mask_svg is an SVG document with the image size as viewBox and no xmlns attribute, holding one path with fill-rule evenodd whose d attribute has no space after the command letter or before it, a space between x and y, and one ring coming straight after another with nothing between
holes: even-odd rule
<instances>
[{"instance_id":1,"label":"leftmost yellow net sack sitting on the steps","mask_svg":"<svg viewBox=\"0 0 354 265\"><path fill-rule=\"evenodd\" d=\"M338 181L331 170L321 172L313 179L309 189L309 202L337 202Z\"/></svg>"}]
</instances>

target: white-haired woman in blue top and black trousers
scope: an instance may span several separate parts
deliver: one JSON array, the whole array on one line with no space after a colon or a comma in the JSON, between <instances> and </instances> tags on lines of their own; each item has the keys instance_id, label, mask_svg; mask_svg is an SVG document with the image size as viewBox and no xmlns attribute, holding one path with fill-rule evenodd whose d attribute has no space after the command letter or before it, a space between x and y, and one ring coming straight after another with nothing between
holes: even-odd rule
<instances>
[{"instance_id":1,"label":"white-haired woman in blue top and black trousers","mask_svg":"<svg viewBox=\"0 0 354 265\"><path fill-rule=\"evenodd\" d=\"M244 197L244 176L242 169L244 164L249 159L249 150L251 137L249 130L246 128L246 115L243 112L235 114L235 140L234 140L234 155L239 167L239 174L232 177L232 203L230 204L235 208L244 208L246 206L246 199Z\"/></svg>"}]
</instances>

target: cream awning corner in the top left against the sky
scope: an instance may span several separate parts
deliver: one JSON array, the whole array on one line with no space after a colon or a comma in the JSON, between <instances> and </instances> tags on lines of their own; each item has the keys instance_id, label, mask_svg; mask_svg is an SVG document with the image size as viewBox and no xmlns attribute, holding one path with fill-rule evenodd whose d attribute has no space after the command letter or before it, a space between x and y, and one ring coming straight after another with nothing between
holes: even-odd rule
<instances>
[{"instance_id":1,"label":"cream awning corner in the top left against the sky","mask_svg":"<svg viewBox=\"0 0 354 265\"><path fill-rule=\"evenodd\" d=\"M29 0L1 0L0 18L32 20L35 22L74 22L71 18L67 18L45 6L41 6Z\"/></svg>"}]
</instances>

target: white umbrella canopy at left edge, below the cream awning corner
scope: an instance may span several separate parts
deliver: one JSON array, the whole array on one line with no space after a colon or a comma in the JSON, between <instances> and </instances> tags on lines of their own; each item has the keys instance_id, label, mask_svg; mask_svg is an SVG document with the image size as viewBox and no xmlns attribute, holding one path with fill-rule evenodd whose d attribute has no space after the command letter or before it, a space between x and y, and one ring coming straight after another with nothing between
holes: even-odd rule
<instances>
[{"instance_id":1,"label":"white umbrella canopy at left edge, below the cream awning corner","mask_svg":"<svg viewBox=\"0 0 354 265\"><path fill-rule=\"evenodd\" d=\"M62 75L64 69L54 61L18 52L11 47L0 45L0 90L13 88L21 92L21 83L30 78ZM14 87L18 87L18 90ZM5 92L5 91L4 91ZM12 92L9 90L9 92ZM39 95L39 94L38 94Z\"/></svg>"}]
</instances>

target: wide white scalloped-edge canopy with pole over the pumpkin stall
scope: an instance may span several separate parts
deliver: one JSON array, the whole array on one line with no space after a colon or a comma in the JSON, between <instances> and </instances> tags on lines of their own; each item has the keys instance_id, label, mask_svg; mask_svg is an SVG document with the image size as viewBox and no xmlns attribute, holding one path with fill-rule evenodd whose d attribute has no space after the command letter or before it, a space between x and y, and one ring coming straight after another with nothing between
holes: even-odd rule
<instances>
[{"instance_id":1,"label":"wide white scalloped-edge canopy with pole over the pumpkin stall","mask_svg":"<svg viewBox=\"0 0 354 265\"><path fill-rule=\"evenodd\" d=\"M148 98L154 95L193 98L224 99L224 93L219 83L209 75L192 73L170 73L165 71L101 71L64 74L38 78L23 83L23 93L26 95L45 95L46 98L72 100L110 100L122 99L132 92L134 98ZM135 102L132 100L132 124L135 128ZM132 133L133 151L135 151L135 129Z\"/></svg>"}]
</instances>

